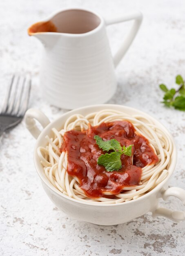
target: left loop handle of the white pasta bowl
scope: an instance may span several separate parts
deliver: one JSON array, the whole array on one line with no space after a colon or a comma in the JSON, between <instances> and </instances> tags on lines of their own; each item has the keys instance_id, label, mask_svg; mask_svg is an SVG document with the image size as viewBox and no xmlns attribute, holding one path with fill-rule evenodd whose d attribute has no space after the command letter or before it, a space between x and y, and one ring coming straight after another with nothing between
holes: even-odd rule
<instances>
[{"instance_id":1,"label":"left loop handle of the white pasta bowl","mask_svg":"<svg viewBox=\"0 0 185 256\"><path fill-rule=\"evenodd\" d=\"M36 121L34 119L36 119L43 128L45 128L50 123L50 121L45 116L45 114L37 109L30 108L27 110L25 114L26 128L29 130L29 132L31 132L33 137L37 139L41 131L36 126Z\"/></svg>"}]
</instances>

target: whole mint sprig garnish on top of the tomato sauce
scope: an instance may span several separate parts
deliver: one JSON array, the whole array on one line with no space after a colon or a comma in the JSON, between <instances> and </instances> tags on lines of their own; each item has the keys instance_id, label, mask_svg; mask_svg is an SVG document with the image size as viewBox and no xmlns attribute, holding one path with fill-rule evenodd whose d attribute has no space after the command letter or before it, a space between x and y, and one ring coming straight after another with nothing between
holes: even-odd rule
<instances>
[{"instance_id":1,"label":"whole mint sprig garnish on top of the tomato sauce","mask_svg":"<svg viewBox=\"0 0 185 256\"><path fill-rule=\"evenodd\" d=\"M104 141L100 136L95 135L94 139L96 139L96 144L99 148L102 148L103 151L114 150L111 153L105 153L104 155L100 155L98 157L98 164L103 165L108 172L118 171L121 168L121 155L132 155L132 146L128 147L121 146L119 141L116 139L110 139Z\"/></svg>"}]
</instances>

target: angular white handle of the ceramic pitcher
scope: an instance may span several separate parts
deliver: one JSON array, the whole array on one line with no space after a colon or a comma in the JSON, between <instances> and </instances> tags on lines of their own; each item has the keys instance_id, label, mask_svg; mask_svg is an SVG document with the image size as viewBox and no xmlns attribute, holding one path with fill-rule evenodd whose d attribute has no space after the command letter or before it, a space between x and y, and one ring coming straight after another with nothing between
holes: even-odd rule
<instances>
[{"instance_id":1,"label":"angular white handle of the ceramic pitcher","mask_svg":"<svg viewBox=\"0 0 185 256\"><path fill-rule=\"evenodd\" d=\"M123 41L122 45L120 46L120 48L118 49L118 51L116 52L116 54L113 58L115 67L117 67L120 60L123 58L123 56L129 49L129 46L132 44L132 41L134 40L134 38L139 30L139 27L141 25L141 22L143 20L143 15L140 11L136 11L136 12L133 12L130 14L125 14L120 17L118 16L118 17L114 17L114 18L105 19L106 25L111 25L114 23L119 23L119 22L128 21L128 20L134 20L134 24L132 25L132 28L131 28L129 34L127 35L126 39Z\"/></svg>"}]
</instances>

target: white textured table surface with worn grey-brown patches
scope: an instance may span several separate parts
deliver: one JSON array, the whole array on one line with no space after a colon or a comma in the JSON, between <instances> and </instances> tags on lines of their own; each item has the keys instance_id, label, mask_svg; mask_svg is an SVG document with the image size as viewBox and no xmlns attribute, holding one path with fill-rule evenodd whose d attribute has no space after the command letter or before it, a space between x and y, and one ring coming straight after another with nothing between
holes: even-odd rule
<instances>
[{"instance_id":1,"label":"white textured table surface with worn grey-brown patches","mask_svg":"<svg viewBox=\"0 0 185 256\"><path fill-rule=\"evenodd\" d=\"M185 77L185 1L6 0L0 1L0 102L10 74L33 77L30 106L53 120L65 110L49 106L38 85L41 45L27 27L62 7L88 7L104 16L140 9L144 20L129 52L117 68L118 90L109 103L125 104L159 119L172 133L178 162L170 186L185 188L185 112L160 104L160 82L174 85ZM112 51L130 23L108 28ZM0 144L0 255L185 255L185 222L175 224L151 214L123 225L103 227L66 216L50 202L33 166L35 140L24 123ZM163 205L182 210L171 198Z\"/></svg>"}]
</instances>

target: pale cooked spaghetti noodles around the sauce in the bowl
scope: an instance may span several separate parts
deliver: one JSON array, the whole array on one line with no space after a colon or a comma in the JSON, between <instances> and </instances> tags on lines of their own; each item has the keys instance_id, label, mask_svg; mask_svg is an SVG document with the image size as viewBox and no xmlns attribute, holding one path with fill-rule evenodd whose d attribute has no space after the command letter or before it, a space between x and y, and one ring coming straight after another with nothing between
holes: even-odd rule
<instances>
[{"instance_id":1,"label":"pale cooked spaghetti noodles around the sauce in the bowl","mask_svg":"<svg viewBox=\"0 0 185 256\"><path fill-rule=\"evenodd\" d=\"M140 182L134 186L124 186L120 193L115 195L111 192L103 193L103 196L97 198L88 197L87 193L80 188L79 180L67 172L68 156L67 151L60 151L64 144L65 132L70 130L84 131L91 126L98 126L103 123L129 121L134 126L135 132L142 135L149 141L158 157L158 162L146 165L142 168ZM115 110L102 110L94 112L87 116L80 114L72 115L65 122L62 130L52 129L53 137L46 136L48 145L37 149L40 162L43 166L45 175L49 182L61 193L71 198L83 202L94 204L114 204L136 200L140 196L154 189L167 176L167 165L172 153L172 141L152 120L140 115L127 115L126 113Z\"/></svg>"}]
</instances>

